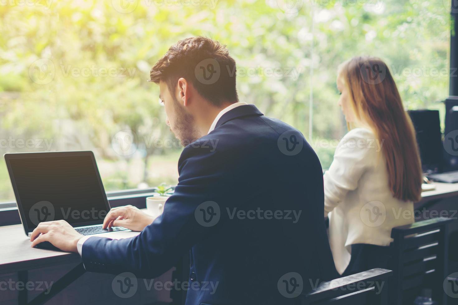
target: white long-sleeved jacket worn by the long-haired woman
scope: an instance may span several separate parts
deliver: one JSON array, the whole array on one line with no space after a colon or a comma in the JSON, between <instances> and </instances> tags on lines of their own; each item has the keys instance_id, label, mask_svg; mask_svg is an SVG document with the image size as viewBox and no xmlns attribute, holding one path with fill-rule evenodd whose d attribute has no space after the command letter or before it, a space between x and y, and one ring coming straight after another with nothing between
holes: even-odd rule
<instances>
[{"instance_id":1,"label":"white long-sleeved jacket worn by the long-haired woman","mask_svg":"<svg viewBox=\"0 0 458 305\"><path fill-rule=\"evenodd\" d=\"M394 198L382 145L370 128L354 128L339 143L324 175L329 242L339 273L347 268L351 245L388 246L391 229L414 222L411 201Z\"/></svg>"}]
</instances>

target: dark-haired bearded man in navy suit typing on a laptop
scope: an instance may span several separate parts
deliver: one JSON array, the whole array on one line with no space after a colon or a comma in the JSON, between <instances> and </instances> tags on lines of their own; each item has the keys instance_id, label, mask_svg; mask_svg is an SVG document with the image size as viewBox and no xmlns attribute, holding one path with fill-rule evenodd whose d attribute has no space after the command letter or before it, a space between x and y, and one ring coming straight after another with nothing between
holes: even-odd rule
<instances>
[{"instance_id":1,"label":"dark-haired bearded man in navy suit typing on a laptop","mask_svg":"<svg viewBox=\"0 0 458 305\"><path fill-rule=\"evenodd\" d=\"M181 40L151 81L185 146L163 214L112 209L105 228L141 231L123 240L42 223L32 246L50 241L79 252L87 271L138 278L157 277L189 253L186 305L292 304L333 277L320 162L298 130L239 102L227 48L206 37Z\"/></svg>"}]
</instances>

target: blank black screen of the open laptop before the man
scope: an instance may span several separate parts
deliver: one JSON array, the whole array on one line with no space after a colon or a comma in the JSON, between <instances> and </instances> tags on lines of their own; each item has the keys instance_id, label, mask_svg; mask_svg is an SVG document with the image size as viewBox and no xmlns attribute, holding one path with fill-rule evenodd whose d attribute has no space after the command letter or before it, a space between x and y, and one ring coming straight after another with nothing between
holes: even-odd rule
<instances>
[{"instance_id":1,"label":"blank black screen of the open laptop before the man","mask_svg":"<svg viewBox=\"0 0 458 305\"><path fill-rule=\"evenodd\" d=\"M58 219L102 223L105 194L90 155L19 158L10 165L29 229Z\"/></svg>"}]
</instances>

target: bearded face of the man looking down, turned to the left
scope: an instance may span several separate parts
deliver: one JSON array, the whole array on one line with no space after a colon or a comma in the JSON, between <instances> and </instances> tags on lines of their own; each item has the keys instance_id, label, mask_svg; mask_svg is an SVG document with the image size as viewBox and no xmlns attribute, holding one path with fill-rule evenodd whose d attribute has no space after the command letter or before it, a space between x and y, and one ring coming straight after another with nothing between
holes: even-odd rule
<instances>
[{"instance_id":1,"label":"bearded face of the man looking down, turned to the left","mask_svg":"<svg viewBox=\"0 0 458 305\"><path fill-rule=\"evenodd\" d=\"M200 135L197 132L194 117L186 111L179 98L178 85L176 92L172 94L166 82L162 80L159 82L159 99L163 103L167 115L166 124L175 137L180 140L181 145L186 146L200 138Z\"/></svg>"}]
</instances>

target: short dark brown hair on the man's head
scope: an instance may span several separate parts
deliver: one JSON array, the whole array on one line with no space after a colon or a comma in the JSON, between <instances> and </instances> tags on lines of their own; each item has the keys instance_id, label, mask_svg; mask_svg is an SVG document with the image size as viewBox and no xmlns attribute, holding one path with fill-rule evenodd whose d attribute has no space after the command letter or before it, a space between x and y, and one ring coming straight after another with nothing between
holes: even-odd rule
<instances>
[{"instance_id":1,"label":"short dark brown hair on the man's head","mask_svg":"<svg viewBox=\"0 0 458 305\"><path fill-rule=\"evenodd\" d=\"M183 77L200 95L219 106L224 101L238 101L235 75L235 60L224 44L207 37L191 37L169 48L151 69L149 81L158 84L162 80L173 92Z\"/></svg>"}]
</instances>

